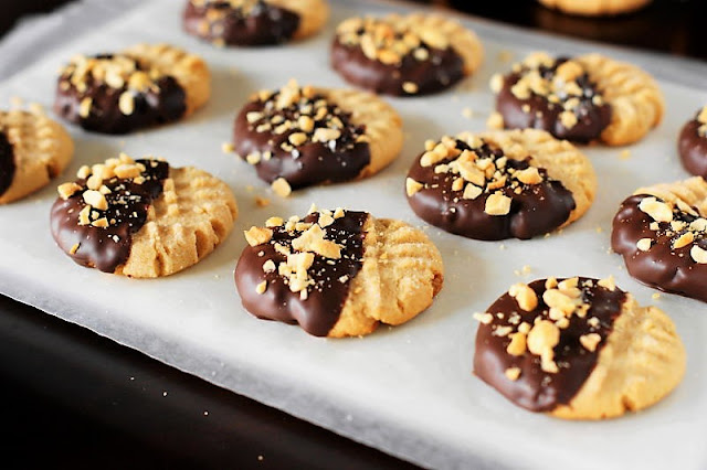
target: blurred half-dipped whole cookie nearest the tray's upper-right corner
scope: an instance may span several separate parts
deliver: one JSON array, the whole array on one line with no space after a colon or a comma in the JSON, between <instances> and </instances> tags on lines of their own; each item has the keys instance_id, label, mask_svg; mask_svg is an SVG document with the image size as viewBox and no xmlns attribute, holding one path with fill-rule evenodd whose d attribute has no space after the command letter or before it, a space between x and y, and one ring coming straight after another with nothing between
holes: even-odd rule
<instances>
[{"instance_id":1,"label":"blurred half-dipped whole cookie nearest the tray's upper-right corner","mask_svg":"<svg viewBox=\"0 0 707 470\"><path fill-rule=\"evenodd\" d=\"M623 146L641 140L664 111L657 84L639 67L600 54L573 58L536 52L492 77L489 125L544 129L576 142Z\"/></svg>"}]
</instances>

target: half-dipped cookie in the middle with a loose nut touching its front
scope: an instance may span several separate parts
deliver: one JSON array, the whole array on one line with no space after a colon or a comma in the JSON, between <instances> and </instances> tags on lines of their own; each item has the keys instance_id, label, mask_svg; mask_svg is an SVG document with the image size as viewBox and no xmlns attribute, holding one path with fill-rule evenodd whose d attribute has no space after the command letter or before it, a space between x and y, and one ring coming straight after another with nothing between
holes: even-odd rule
<instances>
[{"instance_id":1,"label":"half-dipped cookie in the middle with a loose nut touching its front","mask_svg":"<svg viewBox=\"0 0 707 470\"><path fill-rule=\"evenodd\" d=\"M403 135L398 113L377 96L291 81L253 96L233 139L262 180L288 192L377 173L398 157Z\"/></svg>"}]
</instances>

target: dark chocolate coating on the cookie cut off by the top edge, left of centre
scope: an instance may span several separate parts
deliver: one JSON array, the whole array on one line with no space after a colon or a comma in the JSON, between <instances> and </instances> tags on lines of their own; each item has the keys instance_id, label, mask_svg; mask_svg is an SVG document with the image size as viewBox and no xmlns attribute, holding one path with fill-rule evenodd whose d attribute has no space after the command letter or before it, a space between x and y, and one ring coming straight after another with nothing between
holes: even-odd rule
<instances>
[{"instance_id":1,"label":"dark chocolate coating on the cookie cut off by the top edge, left of centre","mask_svg":"<svg viewBox=\"0 0 707 470\"><path fill-rule=\"evenodd\" d=\"M222 20L209 21L210 10L223 10L226 14ZM249 14L225 1L213 1L203 7L187 1L183 20L189 34L212 42L223 40L228 45L279 44L291 40L299 26L297 13L265 1L258 2ZM201 29L204 21L209 24L208 31Z\"/></svg>"}]
</instances>

